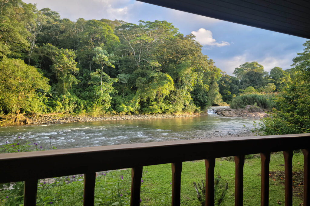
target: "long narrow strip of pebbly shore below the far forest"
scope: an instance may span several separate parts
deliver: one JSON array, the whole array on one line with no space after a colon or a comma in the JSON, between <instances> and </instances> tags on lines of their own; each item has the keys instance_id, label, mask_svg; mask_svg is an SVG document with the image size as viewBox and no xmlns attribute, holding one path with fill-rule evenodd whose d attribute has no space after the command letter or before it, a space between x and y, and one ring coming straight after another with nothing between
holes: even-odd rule
<instances>
[{"instance_id":1,"label":"long narrow strip of pebbly shore below the far forest","mask_svg":"<svg viewBox=\"0 0 310 206\"><path fill-rule=\"evenodd\" d=\"M155 119L155 118L179 118L179 117L196 117L207 115L206 113L196 114L136 114L136 115L114 115L114 116L46 116L46 117L28 117L28 124L60 124L68 122L93 122L93 121L111 121L111 120L134 120L134 119Z\"/></svg>"}]
</instances>

